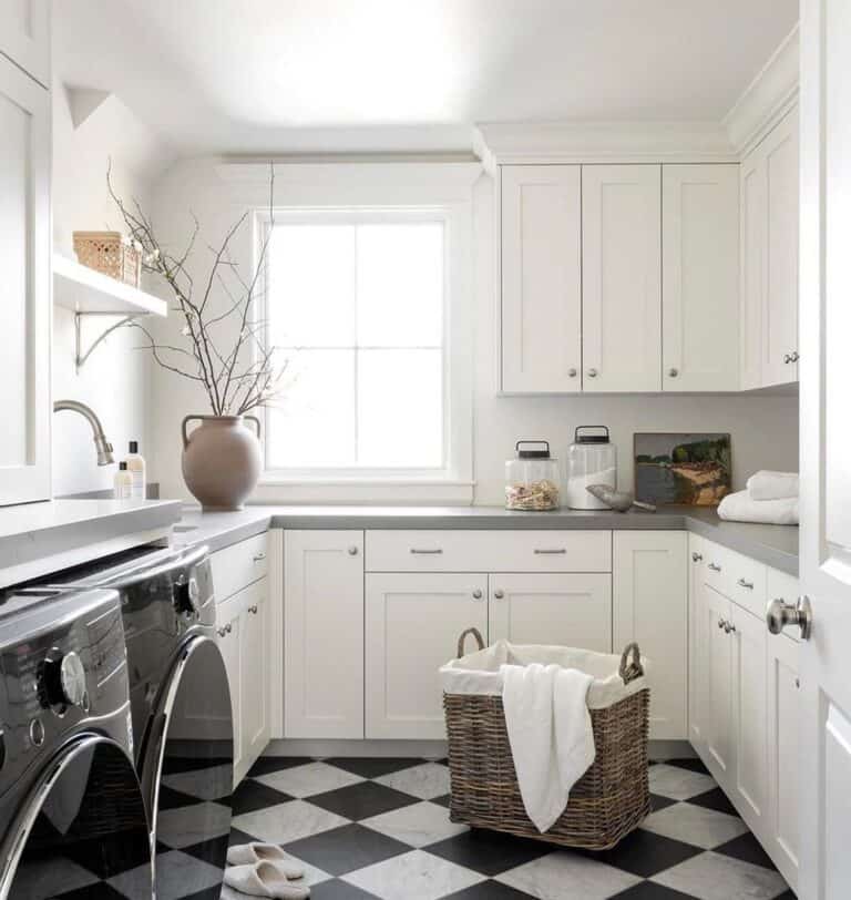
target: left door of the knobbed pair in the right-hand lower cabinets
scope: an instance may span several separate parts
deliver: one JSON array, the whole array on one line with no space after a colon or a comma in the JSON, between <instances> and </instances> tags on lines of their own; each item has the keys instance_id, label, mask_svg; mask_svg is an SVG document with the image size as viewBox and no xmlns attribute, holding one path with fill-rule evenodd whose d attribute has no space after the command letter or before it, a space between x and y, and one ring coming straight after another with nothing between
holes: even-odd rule
<instances>
[{"instance_id":1,"label":"left door of the knobbed pair in the right-hand lower cabinets","mask_svg":"<svg viewBox=\"0 0 851 900\"><path fill-rule=\"evenodd\" d=\"M704 583L703 617L706 635L706 754L716 780L724 787L732 778L732 644L724 623L730 621L730 601Z\"/></svg>"}]
</instances>

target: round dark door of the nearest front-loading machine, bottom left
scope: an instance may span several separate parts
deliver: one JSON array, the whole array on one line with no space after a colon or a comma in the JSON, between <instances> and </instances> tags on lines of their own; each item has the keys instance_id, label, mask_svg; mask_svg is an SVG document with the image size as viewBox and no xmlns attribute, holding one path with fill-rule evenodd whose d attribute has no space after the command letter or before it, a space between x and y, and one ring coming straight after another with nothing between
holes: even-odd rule
<instances>
[{"instance_id":1,"label":"round dark door of the nearest front-loading machine, bottom left","mask_svg":"<svg viewBox=\"0 0 851 900\"><path fill-rule=\"evenodd\" d=\"M0 898L151 900L151 842L132 761L84 736L47 767L4 845Z\"/></svg>"}]
</instances>

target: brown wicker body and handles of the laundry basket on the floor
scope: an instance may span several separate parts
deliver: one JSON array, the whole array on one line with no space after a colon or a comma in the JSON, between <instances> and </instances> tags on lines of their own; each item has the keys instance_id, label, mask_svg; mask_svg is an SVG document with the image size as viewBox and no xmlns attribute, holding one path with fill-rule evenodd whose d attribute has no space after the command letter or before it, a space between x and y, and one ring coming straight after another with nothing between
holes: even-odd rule
<instances>
[{"instance_id":1,"label":"brown wicker body and handles of the laundry basket on the floor","mask_svg":"<svg viewBox=\"0 0 851 900\"><path fill-rule=\"evenodd\" d=\"M475 637L480 650L484 648L481 634L470 628L459 640L459 657L463 655L468 634ZM624 650L618 674L625 685L644 675L637 644ZM564 847L607 850L649 814L647 688L605 709L589 710L596 757L573 786L562 816L544 833L535 828L523 806L502 698L444 693L443 708L449 736L452 821Z\"/></svg>"}]
</instances>

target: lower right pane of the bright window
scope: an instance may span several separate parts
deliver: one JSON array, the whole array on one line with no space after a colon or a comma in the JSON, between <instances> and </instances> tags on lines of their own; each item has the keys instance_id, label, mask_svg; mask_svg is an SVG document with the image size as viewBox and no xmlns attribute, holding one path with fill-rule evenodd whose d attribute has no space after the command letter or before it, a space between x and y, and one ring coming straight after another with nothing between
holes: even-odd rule
<instances>
[{"instance_id":1,"label":"lower right pane of the bright window","mask_svg":"<svg viewBox=\"0 0 851 900\"><path fill-rule=\"evenodd\" d=\"M440 350L361 350L358 458L367 467L443 464Z\"/></svg>"}]
</instances>

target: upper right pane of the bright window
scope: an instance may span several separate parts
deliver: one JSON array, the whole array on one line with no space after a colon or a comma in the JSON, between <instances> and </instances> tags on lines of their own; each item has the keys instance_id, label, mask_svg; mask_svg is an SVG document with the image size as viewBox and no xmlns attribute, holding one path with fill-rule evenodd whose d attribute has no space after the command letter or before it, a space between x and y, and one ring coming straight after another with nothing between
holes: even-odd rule
<instances>
[{"instance_id":1,"label":"upper right pane of the bright window","mask_svg":"<svg viewBox=\"0 0 851 900\"><path fill-rule=\"evenodd\" d=\"M439 347L443 225L358 226L358 342Z\"/></svg>"}]
</instances>

